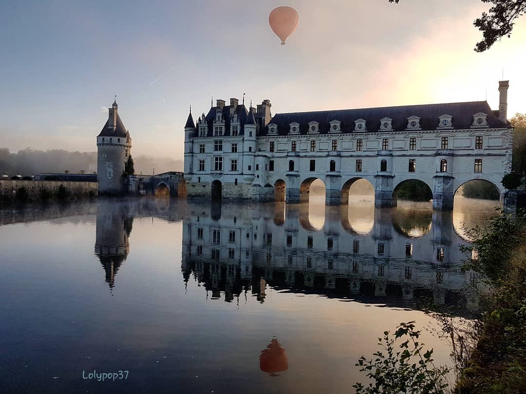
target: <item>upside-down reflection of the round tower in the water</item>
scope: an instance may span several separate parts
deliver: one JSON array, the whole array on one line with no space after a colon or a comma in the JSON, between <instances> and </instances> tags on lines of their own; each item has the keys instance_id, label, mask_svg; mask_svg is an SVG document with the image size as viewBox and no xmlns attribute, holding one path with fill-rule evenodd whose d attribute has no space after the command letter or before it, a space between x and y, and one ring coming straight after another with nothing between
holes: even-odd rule
<instances>
[{"instance_id":1,"label":"upside-down reflection of the round tower in the water","mask_svg":"<svg viewBox=\"0 0 526 394\"><path fill-rule=\"evenodd\" d=\"M106 273L110 289L115 286L115 275L126 261L129 253L129 235L133 217L128 215L123 204L101 204L98 206L95 255Z\"/></svg>"}]
</instances>

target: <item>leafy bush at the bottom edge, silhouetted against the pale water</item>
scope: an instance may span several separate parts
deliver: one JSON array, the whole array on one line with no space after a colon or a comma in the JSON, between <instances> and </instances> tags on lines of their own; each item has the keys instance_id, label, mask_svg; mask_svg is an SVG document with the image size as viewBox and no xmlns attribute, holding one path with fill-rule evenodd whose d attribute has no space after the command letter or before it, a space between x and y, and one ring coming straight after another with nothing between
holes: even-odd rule
<instances>
[{"instance_id":1,"label":"leafy bush at the bottom edge, silhouetted against the pale water","mask_svg":"<svg viewBox=\"0 0 526 394\"><path fill-rule=\"evenodd\" d=\"M376 359L367 360L360 357L356 366L360 371L367 372L367 377L375 382L368 387L356 383L352 387L357 393L431 393L442 394L448 391L447 375L449 369L436 367L431 358L433 349L423 351L424 344L416 339L421 331L414 330L414 323L400 323L395 334L383 332L383 338L378 338L378 345L386 353L377 351ZM409 337L400 345L400 351L395 353L397 339Z\"/></svg>"}]
</instances>

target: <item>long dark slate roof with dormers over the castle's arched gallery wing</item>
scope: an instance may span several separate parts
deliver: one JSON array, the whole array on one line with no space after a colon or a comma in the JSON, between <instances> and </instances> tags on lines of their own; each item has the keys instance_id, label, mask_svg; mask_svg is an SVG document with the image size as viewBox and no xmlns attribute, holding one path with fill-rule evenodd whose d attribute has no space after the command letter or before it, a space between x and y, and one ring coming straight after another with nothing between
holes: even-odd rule
<instances>
[{"instance_id":1,"label":"long dark slate roof with dormers over the castle's arched gallery wing","mask_svg":"<svg viewBox=\"0 0 526 394\"><path fill-rule=\"evenodd\" d=\"M327 134L329 122L339 120L341 122L341 133L355 132L355 120L365 119L367 132L377 132L380 129L380 119L388 117L392 119L392 128L395 132L405 132L407 118L418 116L422 130L436 130L439 117L451 115L453 129L469 129L473 123L473 115L483 112L488 115L487 121L490 128L508 127L509 122L503 122L498 117L498 111L493 111L487 101L456 102L446 104L426 104L400 107L345 109L335 111L314 112L290 112L278 113L271 119L270 123L278 126L278 135L285 136L290 131L290 123L299 123L300 134L307 134L308 123L316 121L319 123L319 133ZM268 127L261 130L259 135L267 134Z\"/></svg>"}]
</instances>

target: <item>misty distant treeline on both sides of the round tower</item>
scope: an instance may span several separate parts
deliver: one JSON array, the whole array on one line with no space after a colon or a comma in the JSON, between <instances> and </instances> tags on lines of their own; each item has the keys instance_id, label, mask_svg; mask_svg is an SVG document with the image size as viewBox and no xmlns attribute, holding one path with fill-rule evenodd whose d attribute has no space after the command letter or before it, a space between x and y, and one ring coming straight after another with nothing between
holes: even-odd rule
<instances>
[{"instance_id":1,"label":"misty distant treeline on both sides of the round tower","mask_svg":"<svg viewBox=\"0 0 526 394\"><path fill-rule=\"evenodd\" d=\"M167 171L183 171L183 161L170 158L151 158L145 155L134 156L135 173L151 174ZM68 152L62 149L47 151L26 148L16 153L8 148L0 148L0 175L29 176L43 172L63 173L97 171L97 152Z\"/></svg>"}]
</instances>

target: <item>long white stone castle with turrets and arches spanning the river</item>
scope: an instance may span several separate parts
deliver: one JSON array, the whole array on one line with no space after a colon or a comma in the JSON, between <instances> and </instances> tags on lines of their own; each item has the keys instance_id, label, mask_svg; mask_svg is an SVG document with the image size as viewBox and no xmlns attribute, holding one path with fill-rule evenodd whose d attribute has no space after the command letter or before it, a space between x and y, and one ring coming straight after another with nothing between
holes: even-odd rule
<instances>
[{"instance_id":1,"label":"long white stone castle with turrets and arches spanning the river","mask_svg":"<svg viewBox=\"0 0 526 394\"><path fill-rule=\"evenodd\" d=\"M451 210L454 193L474 179L493 183L502 196L513 141L508 87L499 82L495 111L475 101L273 117L270 100L257 109L217 100L197 123L190 111L185 125L187 196L297 203L308 201L316 179L329 205L347 203L358 179L375 187L380 208L396 205L393 191L410 179L429 186L436 210Z\"/></svg>"}]
</instances>

